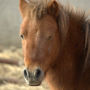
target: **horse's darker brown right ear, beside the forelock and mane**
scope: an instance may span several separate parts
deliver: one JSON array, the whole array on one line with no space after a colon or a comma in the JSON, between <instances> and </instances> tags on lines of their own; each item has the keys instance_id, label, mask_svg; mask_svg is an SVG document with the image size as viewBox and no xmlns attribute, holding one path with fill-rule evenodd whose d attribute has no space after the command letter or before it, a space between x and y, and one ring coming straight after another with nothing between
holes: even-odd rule
<instances>
[{"instance_id":1,"label":"horse's darker brown right ear, beside the forelock and mane","mask_svg":"<svg viewBox=\"0 0 90 90\"><path fill-rule=\"evenodd\" d=\"M54 17L57 17L59 14L59 5L56 0L52 0L48 4L48 14L53 15Z\"/></svg>"}]
</instances>

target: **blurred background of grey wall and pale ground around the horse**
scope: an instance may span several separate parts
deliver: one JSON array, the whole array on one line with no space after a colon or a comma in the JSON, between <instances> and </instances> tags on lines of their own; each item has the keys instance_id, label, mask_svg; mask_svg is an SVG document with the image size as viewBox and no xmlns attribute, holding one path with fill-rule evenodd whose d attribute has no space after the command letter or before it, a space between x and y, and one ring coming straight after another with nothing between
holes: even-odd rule
<instances>
[{"instance_id":1,"label":"blurred background of grey wall and pale ground around the horse","mask_svg":"<svg viewBox=\"0 0 90 90\"><path fill-rule=\"evenodd\" d=\"M85 10L90 18L90 0L59 0L64 5ZM19 29L21 24L19 0L0 0L0 90L48 90L44 82L40 87L28 87L23 79L23 55Z\"/></svg>"}]
</instances>

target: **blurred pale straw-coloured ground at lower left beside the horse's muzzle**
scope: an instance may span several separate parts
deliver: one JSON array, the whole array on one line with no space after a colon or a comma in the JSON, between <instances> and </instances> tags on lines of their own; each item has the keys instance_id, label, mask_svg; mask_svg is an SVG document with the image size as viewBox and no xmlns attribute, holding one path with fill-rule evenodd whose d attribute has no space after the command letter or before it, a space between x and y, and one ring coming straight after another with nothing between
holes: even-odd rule
<instances>
[{"instance_id":1,"label":"blurred pale straw-coloured ground at lower left beside the horse's muzzle","mask_svg":"<svg viewBox=\"0 0 90 90\"><path fill-rule=\"evenodd\" d=\"M23 55L21 48L10 47L8 49L0 47L0 58L19 60L20 66L0 64L0 90L49 90L44 81L41 86L28 86L23 77ZM11 79L11 81L4 81ZM15 83L13 83L15 81Z\"/></svg>"}]
</instances>

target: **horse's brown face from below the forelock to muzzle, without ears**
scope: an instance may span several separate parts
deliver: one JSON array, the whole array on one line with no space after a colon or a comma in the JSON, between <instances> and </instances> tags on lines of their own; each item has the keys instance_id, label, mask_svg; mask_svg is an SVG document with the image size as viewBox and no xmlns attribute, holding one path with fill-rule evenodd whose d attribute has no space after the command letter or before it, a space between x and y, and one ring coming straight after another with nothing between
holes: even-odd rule
<instances>
[{"instance_id":1,"label":"horse's brown face from below the forelock to muzzle, without ears","mask_svg":"<svg viewBox=\"0 0 90 90\"><path fill-rule=\"evenodd\" d=\"M60 47L58 25L50 15L42 19L24 17L20 35L29 85L40 85L47 71L55 63Z\"/></svg>"}]
</instances>

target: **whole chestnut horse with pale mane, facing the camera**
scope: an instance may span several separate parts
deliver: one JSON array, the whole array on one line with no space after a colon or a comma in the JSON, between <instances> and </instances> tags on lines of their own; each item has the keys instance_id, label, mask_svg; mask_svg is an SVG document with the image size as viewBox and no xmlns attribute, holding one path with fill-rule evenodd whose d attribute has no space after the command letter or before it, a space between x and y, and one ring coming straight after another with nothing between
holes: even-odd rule
<instances>
[{"instance_id":1,"label":"whole chestnut horse with pale mane, facing the camera","mask_svg":"<svg viewBox=\"0 0 90 90\"><path fill-rule=\"evenodd\" d=\"M90 20L58 0L19 0L24 78L51 90L90 90Z\"/></svg>"}]
</instances>

